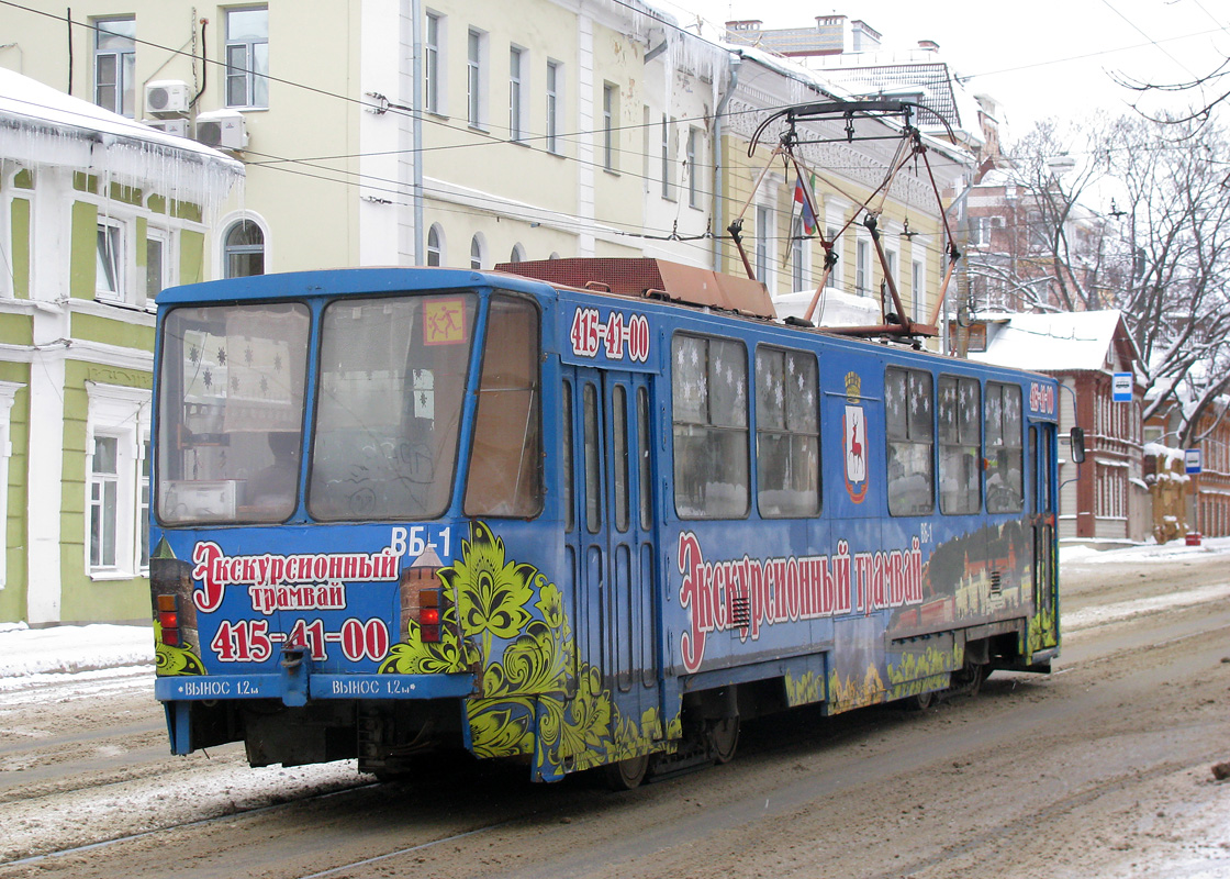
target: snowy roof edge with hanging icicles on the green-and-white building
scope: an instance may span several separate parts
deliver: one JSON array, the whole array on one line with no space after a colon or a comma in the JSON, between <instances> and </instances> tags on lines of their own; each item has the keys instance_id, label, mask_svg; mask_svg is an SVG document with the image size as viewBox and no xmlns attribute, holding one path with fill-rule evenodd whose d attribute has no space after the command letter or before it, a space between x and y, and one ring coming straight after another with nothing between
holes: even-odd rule
<instances>
[{"instance_id":1,"label":"snowy roof edge with hanging icicles on the green-and-white building","mask_svg":"<svg viewBox=\"0 0 1230 879\"><path fill-rule=\"evenodd\" d=\"M125 186L156 185L182 201L216 204L244 179L242 163L0 68L0 156L66 166Z\"/></svg>"}]
</instances>

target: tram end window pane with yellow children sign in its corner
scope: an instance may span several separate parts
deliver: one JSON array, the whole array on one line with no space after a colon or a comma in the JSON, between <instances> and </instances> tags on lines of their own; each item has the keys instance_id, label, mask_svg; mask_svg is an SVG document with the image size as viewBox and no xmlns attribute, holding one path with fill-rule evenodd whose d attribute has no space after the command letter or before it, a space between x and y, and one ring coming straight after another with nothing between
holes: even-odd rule
<instances>
[{"instance_id":1,"label":"tram end window pane with yellow children sign in its corner","mask_svg":"<svg viewBox=\"0 0 1230 879\"><path fill-rule=\"evenodd\" d=\"M444 512L474 295L347 299L325 309L308 510L315 518Z\"/></svg>"}]
</instances>

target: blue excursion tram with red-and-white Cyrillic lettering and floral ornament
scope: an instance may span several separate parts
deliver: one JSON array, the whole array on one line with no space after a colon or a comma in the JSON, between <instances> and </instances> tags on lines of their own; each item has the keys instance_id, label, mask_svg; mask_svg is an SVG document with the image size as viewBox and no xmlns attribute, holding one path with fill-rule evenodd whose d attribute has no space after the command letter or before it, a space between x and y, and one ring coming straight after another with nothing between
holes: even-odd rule
<instances>
[{"instance_id":1,"label":"blue excursion tram with red-and-white Cyrillic lettering and floral ornament","mask_svg":"<svg viewBox=\"0 0 1230 879\"><path fill-rule=\"evenodd\" d=\"M617 787L1059 648L1058 388L653 260L164 292L171 749ZM562 275L561 275L562 272ZM536 277L535 277L536 276Z\"/></svg>"}]
</instances>

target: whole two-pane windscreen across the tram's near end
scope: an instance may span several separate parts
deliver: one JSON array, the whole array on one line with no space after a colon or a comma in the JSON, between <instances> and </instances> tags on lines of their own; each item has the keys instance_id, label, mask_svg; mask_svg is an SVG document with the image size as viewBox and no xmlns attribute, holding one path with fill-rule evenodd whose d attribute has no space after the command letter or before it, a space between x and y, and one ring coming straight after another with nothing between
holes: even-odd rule
<instances>
[{"instance_id":1,"label":"whole two-pane windscreen across the tram's near end","mask_svg":"<svg viewBox=\"0 0 1230 879\"><path fill-rule=\"evenodd\" d=\"M430 518L448 506L472 294L323 310L308 507L320 520ZM301 303L177 308L159 385L166 524L280 522L298 507L310 314Z\"/></svg>"}]
</instances>

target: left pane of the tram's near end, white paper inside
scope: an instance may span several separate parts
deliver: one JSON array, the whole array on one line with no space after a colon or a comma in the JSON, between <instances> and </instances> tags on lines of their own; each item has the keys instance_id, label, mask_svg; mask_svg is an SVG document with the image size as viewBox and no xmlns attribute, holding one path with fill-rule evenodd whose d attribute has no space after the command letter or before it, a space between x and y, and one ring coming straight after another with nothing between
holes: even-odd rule
<instances>
[{"instance_id":1,"label":"left pane of the tram's near end, white paper inside","mask_svg":"<svg viewBox=\"0 0 1230 879\"><path fill-rule=\"evenodd\" d=\"M294 512L308 325L308 308L289 303L167 315L156 464L162 522L280 522Z\"/></svg>"}]
</instances>

